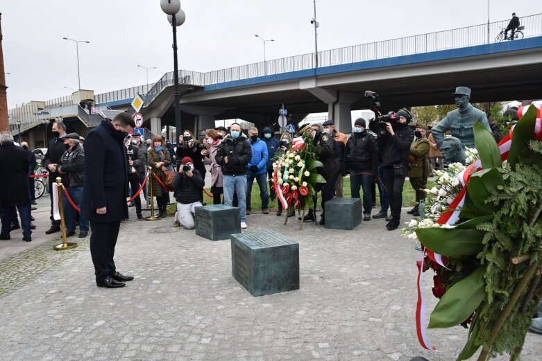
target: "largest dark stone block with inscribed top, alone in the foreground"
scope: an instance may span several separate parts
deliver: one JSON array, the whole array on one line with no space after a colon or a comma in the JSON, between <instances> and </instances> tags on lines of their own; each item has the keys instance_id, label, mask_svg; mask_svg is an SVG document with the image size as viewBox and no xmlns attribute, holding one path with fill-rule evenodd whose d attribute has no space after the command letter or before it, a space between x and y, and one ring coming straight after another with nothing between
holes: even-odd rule
<instances>
[{"instance_id":1,"label":"largest dark stone block with inscribed top, alone in the foreground","mask_svg":"<svg viewBox=\"0 0 542 361\"><path fill-rule=\"evenodd\" d=\"M299 290L299 244L276 231L232 234L232 274L253 296Z\"/></svg>"}]
</instances>

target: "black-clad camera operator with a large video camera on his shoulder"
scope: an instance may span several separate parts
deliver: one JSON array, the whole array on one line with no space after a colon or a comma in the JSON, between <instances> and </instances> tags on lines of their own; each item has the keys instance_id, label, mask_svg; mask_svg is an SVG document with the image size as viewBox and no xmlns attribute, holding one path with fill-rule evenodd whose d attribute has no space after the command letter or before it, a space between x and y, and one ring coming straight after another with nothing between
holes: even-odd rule
<instances>
[{"instance_id":1,"label":"black-clad camera operator with a large video camera on his shoulder","mask_svg":"<svg viewBox=\"0 0 542 361\"><path fill-rule=\"evenodd\" d=\"M403 204L403 184L409 169L410 145L414 140L414 130L408 123L412 114L407 109L399 109L396 114L380 116L378 151L382 157L382 167L386 178L386 188L391 208L391 217L386 218L389 231L400 224L401 205Z\"/></svg>"}]
</instances>

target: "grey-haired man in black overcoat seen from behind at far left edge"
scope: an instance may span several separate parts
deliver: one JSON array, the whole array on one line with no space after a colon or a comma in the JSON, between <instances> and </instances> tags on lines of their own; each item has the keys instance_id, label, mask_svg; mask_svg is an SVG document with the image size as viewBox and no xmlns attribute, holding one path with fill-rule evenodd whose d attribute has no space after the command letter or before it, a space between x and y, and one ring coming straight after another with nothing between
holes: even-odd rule
<instances>
[{"instance_id":1,"label":"grey-haired man in black overcoat seen from behind at far left edge","mask_svg":"<svg viewBox=\"0 0 542 361\"><path fill-rule=\"evenodd\" d=\"M32 240L30 229L30 204L28 202L28 153L15 146L9 132L0 133L0 214L2 229L0 240L10 239L11 218L14 207L21 215L23 240Z\"/></svg>"}]
</instances>

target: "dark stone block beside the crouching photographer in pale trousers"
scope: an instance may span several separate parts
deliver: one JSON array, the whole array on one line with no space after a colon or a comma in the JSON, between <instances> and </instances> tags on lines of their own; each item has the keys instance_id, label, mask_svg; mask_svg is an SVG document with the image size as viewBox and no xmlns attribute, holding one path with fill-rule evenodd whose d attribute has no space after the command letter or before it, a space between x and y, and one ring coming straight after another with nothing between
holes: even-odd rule
<instances>
[{"instance_id":1,"label":"dark stone block beside the crouching photographer in pale trousers","mask_svg":"<svg viewBox=\"0 0 542 361\"><path fill-rule=\"evenodd\" d=\"M223 204L196 207L196 234L210 240L227 240L241 231L239 209Z\"/></svg>"}]
</instances>

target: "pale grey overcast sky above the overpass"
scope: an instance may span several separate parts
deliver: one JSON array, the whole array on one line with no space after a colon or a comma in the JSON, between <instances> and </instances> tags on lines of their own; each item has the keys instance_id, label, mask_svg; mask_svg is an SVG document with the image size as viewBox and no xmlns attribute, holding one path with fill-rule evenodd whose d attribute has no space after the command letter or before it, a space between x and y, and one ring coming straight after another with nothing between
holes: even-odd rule
<instances>
[{"instance_id":1,"label":"pale grey overcast sky above the overpass","mask_svg":"<svg viewBox=\"0 0 542 361\"><path fill-rule=\"evenodd\" d=\"M514 8L510 8L513 4ZM314 52L312 0L184 0L179 68L212 71ZM541 0L489 0L489 19L542 12ZM173 71L171 26L160 0L2 0L3 58L10 108L78 88L95 94L143 85ZM487 0L316 0L319 51L486 24Z\"/></svg>"}]
</instances>

